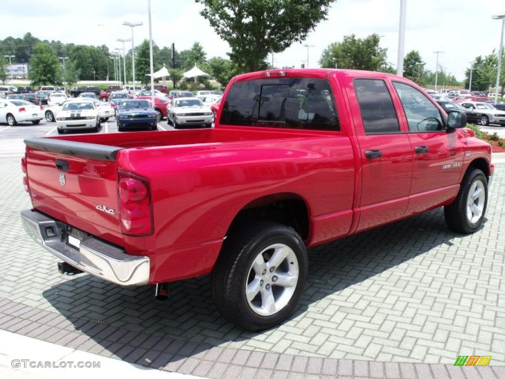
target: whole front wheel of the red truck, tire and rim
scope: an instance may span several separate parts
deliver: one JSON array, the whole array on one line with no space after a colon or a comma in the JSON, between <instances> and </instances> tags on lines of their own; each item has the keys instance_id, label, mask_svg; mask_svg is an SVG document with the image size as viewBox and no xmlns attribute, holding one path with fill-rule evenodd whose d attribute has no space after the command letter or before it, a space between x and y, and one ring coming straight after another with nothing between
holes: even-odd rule
<instances>
[{"instance_id":1,"label":"whole front wheel of the red truck, tire and rim","mask_svg":"<svg viewBox=\"0 0 505 379\"><path fill-rule=\"evenodd\" d=\"M482 224L486 208L487 178L481 170L471 169L463 178L455 201L444 207L445 223L457 233L472 233Z\"/></svg>"}]
</instances>

